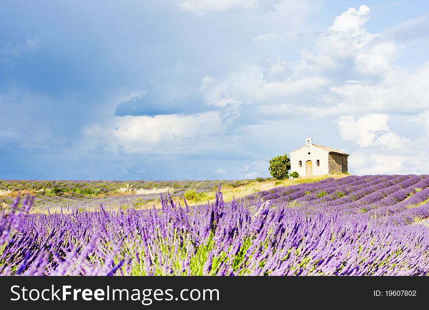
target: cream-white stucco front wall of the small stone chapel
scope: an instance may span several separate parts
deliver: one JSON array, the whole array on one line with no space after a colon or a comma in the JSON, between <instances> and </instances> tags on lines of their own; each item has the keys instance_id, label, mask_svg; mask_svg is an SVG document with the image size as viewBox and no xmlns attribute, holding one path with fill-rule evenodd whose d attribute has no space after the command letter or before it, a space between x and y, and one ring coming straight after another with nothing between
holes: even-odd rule
<instances>
[{"instance_id":1,"label":"cream-white stucco front wall of the small stone chapel","mask_svg":"<svg viewBox=\"0 0 429 310\"><path fill-rule=\"evenodd\" d=\"M297 171L300 177L304 177L306 175L305 164L310 160L312 161L313 176L329 174L328 154L327 150L313 146L312 144L302 146L289 153L291 157L291 172ZM317 160L320 161L320 166L317 166ZM302 161L302 167L299 167L299 161Z\"/></svg>"}]
</instances>

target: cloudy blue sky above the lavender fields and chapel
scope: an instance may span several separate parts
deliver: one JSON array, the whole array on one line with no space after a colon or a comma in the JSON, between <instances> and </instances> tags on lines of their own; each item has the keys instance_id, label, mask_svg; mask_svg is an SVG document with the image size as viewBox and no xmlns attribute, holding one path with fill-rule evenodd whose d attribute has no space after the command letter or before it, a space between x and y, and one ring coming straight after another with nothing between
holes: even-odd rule
<instances>
[{"instance_id":1,"label":"cloudy blue sky above the lavender fields and chapel","mask_svg":"<svg viewBox=\"0 0 429 310\"><path fill-rule=\"evenodd\" d=\"M429 1L0 1L0 179L429 173Z\"/></svg>"}]
</instances>

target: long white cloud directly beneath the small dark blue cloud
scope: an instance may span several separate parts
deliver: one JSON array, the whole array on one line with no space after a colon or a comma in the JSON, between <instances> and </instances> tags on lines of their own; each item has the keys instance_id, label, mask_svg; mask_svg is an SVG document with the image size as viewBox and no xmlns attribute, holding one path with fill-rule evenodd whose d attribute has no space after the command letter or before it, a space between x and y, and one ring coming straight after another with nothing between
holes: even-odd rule
<instances>
[{"instance_id":1,"label":"long white cloud directly beneath the small dark blue cloud","mask_svg":"<svg viewBox=\"0 0 429 310\"><path fill-rule=\"evenodd\" d=\"M156 149L182 152L197 146L188 146L187 140L221 134L223 120L218 112L192 115L156 115L114 117L106 124L84 128L89 145L109 145L115 150L123 146L129 153L150 153Z\"/></svg>"}]
</instances>

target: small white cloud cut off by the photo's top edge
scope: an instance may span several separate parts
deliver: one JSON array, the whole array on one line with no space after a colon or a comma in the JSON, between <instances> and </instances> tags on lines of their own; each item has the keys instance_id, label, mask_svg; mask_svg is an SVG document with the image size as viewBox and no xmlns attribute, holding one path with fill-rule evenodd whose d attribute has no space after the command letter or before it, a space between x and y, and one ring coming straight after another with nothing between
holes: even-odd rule
<instances>
[{"instance_id":1,"label":"small white cloud cut off by the photo's top edge","mask_svg":"<svg viewBox=\"0 0 429 310\"><path fill-rule=\"evenodd\" d=\"M226 11L234 8L254 8L258 0L184 0L178 6L184 11L190 11L197 16L203 16L210 11Z\"/></svg>"}]
</instances>

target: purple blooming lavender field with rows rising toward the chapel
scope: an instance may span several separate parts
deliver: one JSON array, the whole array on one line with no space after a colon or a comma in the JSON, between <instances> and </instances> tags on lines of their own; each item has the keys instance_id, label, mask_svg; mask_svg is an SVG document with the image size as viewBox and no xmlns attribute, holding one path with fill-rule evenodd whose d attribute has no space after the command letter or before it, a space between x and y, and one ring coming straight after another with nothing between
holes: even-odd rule
<instances>
[{"instance_id":1,"label":"purple blooming lavender field with rows rising toward the chapel","mask_svg":"<svg viewBox=\"0 0 429 310\"><path fill-rule=\"evenodd\" d=\"M429 176L328 178L224 202L0 217L2 275L428 275Z\"/></svg>"}]
</instances>

